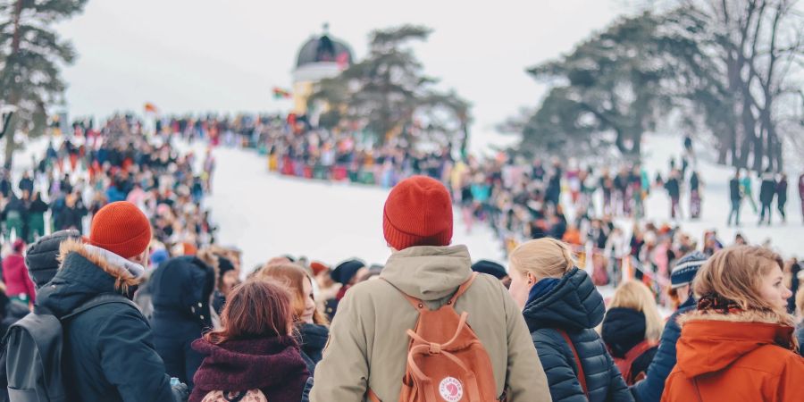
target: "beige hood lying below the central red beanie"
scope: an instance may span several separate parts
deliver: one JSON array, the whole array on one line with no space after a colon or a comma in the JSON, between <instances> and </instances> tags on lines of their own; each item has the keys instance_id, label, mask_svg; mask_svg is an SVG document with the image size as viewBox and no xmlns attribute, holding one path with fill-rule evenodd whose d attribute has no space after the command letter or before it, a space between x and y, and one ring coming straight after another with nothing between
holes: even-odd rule
<instances>
[{"instance_id":1,"label":"beige hood lying below the central red beanie","mask_svg":"<svg viewBox=\"0 0 804 402\"><path fill-rule=\"evenodd\" d=\"M465 246L408 247L391 255L380 277L407 295L422 300L448 297L472 276Z\"/></svg>"}]
</instances>

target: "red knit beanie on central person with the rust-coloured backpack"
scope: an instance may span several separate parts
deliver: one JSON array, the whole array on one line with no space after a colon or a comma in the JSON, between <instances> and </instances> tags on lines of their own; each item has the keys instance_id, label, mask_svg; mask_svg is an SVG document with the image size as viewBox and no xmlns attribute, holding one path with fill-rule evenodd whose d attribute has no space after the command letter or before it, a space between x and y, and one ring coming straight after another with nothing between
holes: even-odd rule
<instances>
[{"instance_id":1,"label":"red knit beanie on central person with the rust-coloured backpack","mask_svg":"<svg viewBox=\"0 0 804 402\"><path fill-rule=\"evenodd\" d=\"M390 247L448 246L452 240L452 202L447 188L424 176L394 187L382 214L382 233Z\"/></svg>"}]
</instances>

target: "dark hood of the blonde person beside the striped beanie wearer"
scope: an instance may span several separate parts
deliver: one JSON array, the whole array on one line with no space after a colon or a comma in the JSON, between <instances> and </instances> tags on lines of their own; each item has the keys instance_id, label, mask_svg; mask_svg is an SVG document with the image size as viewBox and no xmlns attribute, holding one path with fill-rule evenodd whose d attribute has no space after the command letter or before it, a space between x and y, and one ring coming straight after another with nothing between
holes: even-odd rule
<instances>
[{"instance_id":1,"label":"dark hood of the blonde person beside the striped beanie wearer","mask_svg":"<svg viewBox=\"0 0 804 402\"><path fill-rule=\"evenodd\" d=\"M600 337L611 350L611 355L624 357L629 350L645 340L645 314L631 308L614 307L603 318Z\"/></svg>"}]
</instances>

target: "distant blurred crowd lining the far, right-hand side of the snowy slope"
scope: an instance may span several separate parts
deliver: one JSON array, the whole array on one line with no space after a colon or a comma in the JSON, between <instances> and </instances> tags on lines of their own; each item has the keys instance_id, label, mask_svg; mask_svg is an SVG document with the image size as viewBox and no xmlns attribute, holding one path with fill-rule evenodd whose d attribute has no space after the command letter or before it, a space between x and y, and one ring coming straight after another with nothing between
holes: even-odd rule
<instances>
[{"instance_id":1,"label":"distant blurred crowd lining the far, right-hand side of the snowy slope","mask_svg":"<svg viewBox=\"0 0 804 402\"><path fill-rule=\"evenodd\" d=\"M428 144L425 148L430 151L418 150L409 147L406 138L389 138L380 145L350 130L311 129L303 119L276 116L210 116L167 124L188 138L213 138L218 143L258 148L267 155L269 170L283 175L385 188L413 175L440 180L460 207L467 230L476 224L490 225L506 254L528 239L562 239L580 255L581 264L590 268L596 285L616 286L636 278L660 293L669 282L670 267L692 249L712 255L725 244L746 243L742 234L725 242L716 230L698 237L679 222L683 209L693 220L699 219L702 211L705 183L689 136L683 139L683 152L669 161L663 176L662 172L651 175L640 163L611 167L557 158L530 163L507 153L482 159L456 152L449 144ZM758 188L763 205L759 219L767 224L774 201L786 216L787 180L784 174L779 174L778 180L776 176L763 173ZM759 213L753 187L750 174L741 174L740 196L732 203L737 205L737 223L743 202L754 205L755 214ZM804 174L798 188L804 205ZM681 205L687 192L689 209ZM666 193L671 218L667 223L646 219L651 193L654 197ZM797 262L791 259L789 264ZM669 300L661 302L668 305Z\"/></svg>"}]
</instances>

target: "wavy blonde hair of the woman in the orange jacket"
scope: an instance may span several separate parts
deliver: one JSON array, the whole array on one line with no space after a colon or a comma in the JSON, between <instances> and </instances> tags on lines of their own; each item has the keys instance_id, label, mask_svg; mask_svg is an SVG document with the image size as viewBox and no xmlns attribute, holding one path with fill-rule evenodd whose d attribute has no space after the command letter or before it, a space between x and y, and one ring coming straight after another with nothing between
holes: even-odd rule
<instances>
[{"instance_id":1,"label":"wavy blonde hair of the woman in the orange jacket","mask_svg":"<svg viewBox=\"0 0 804 402\"><path fill-rule=\"evenodd\" d=\"M743 310L772 312L781 322L789 322L789 314L768 303L759 290L762 277L775 267L783 268L782 257L765 247L724 248L700 268L692 289L697 297L714 294L733 301Z\"/></svg>"}]
</instances>

